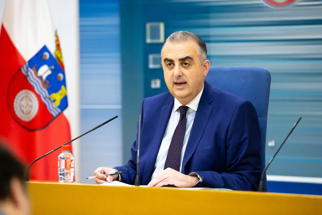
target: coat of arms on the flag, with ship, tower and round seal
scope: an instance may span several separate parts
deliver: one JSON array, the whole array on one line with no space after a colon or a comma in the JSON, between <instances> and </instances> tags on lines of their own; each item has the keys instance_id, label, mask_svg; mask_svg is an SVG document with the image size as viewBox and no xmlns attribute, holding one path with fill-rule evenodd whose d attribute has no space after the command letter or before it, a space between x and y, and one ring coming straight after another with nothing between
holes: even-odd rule
<instances>
[{"instance_id":1,"label":"coat of arms on the flag, with ship, tower and round seal","mask_svg":"<svg viewBox=\"0 0 322 215\"><path fill-rule=\"evenodd\" d=\"M12 118L29 131L46 127L68 106L64 76L44 46L9 82L7 101Z\"/></svg>"}]
</instances>

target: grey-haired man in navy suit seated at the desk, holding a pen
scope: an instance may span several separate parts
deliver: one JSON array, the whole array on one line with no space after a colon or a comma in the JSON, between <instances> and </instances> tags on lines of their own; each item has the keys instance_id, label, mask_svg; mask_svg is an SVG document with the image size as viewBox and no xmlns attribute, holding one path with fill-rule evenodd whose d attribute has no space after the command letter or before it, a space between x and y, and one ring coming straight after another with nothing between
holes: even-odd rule
<instances>
[{"instance_id":1,"label":"grey-haired man in navy suit seated at the desk, holding a pen","mask_svg":"<svg viewBox=\"0 0 322 215\"><path fill-rule=\"evenodd\" d=\"M161 58L169 92L142 102L141 185L256 191L260 129L253 105L205 82L210 62L196 34L171 34ZM136 141L131 154L124 166L99 167L96 183L134 184ZM103 175L115 171L124 173Z\"/></svg>"}]
</instances>

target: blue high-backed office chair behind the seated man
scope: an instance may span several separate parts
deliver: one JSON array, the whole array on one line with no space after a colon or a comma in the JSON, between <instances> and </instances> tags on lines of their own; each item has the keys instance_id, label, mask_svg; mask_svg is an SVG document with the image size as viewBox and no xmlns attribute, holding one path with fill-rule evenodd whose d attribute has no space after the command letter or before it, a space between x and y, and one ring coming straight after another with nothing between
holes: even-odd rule
<instances>
[{"instance_id":1,"label":"blue high-backed office chair behind the seated man","mask_svg":"<svg viewBox=\"0 0 322 215\"><path fill-rule=\"evenodd\" d=\"M211 66L205 80L224 91L250 101L257 112L260 124L261 170L265 168L267 112L270 98L270 72L259 67ZM263 190L268 192L266 173Z\"/></svg>"}]
</instances>

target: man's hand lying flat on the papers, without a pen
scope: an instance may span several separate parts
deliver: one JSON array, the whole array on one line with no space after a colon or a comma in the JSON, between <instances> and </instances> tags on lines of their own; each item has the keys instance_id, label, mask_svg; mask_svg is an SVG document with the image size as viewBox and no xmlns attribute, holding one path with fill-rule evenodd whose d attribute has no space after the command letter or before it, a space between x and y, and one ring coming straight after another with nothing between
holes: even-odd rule
<instances>
[{"instance_id":1,"label":"man's hand lying flat on the papers, without a pen","mask_svg":"<svg viewBox=\"0 0 322 215\"><path fill-rule=\"evenodd\" d=\"M185 175L174 169L167 168L150 181L148 187L162 187L166 185L174 185L176 187L188 188L193 187L199 179L195 176Z\"/></svg>"}]
</instances>

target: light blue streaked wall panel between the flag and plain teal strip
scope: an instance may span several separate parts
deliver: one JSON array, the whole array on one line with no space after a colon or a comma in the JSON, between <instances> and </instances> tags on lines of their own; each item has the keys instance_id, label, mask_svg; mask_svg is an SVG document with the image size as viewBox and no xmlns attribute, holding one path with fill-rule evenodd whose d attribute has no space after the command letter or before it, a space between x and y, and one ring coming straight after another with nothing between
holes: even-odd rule
<instances>
[{"instance_id":1,"label":"light blue streaked wall panel between the flag and plain teal strip","mask_svg":"<svg viewBox=\"0 0 322 215\"><path fill-rule=\"evenodd\" d=\"M100 166L122 164L122 97L118 0L80 0L81 182Z\"/></svg>"}]
</instances>

